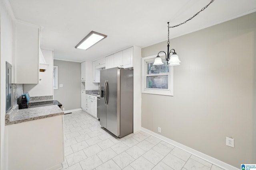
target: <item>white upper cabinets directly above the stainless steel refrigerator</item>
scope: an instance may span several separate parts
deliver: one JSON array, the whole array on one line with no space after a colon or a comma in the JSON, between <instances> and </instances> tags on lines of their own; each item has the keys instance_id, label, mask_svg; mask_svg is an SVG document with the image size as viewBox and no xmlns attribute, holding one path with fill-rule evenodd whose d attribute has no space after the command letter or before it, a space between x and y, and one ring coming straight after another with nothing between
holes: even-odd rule
<instances>
[{"instance_id":1,"label":"white upper cabinets directly above the stainless steel refrigerator","mask_svg":"<svg viewBox=\"0 0 256 170\"><path fill-rule=\"evenodd\" d=\"M106 57L106 68L122 67L130 68L133 67L133 47L119 51Z\"/></svg>"}]
</instances>

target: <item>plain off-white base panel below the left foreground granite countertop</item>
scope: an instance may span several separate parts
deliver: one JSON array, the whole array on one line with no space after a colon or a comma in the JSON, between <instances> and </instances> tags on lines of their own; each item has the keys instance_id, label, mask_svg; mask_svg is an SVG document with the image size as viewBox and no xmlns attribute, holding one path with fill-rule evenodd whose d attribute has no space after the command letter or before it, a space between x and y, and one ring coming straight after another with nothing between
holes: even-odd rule
<instances>
[{"instance_id":1,"label":"plain off-white base panel below the left foreground granite countertop","mask_svg":"<svg viewBox=\"0 0 256 170\"><path fill-rule=\"evenodd\" d=\"M6 125L5 128L8 170L62 168L63 115Z\"/></svg>"}]
</instances>

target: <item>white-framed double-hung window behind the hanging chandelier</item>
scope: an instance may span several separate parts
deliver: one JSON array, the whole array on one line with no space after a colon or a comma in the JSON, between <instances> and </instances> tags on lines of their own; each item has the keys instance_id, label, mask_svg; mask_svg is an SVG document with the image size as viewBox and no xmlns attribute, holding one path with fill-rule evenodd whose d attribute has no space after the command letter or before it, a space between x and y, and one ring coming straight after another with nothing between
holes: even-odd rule
<instances>
[{"instance_id":1,"label":"white-framed double-hung window behind the hanging chandelier","mask_svg":"<svg viewBox=\"0 0 256 170\"><path fill-rule=\"evenodd\" d=\"M142 93L173 96L173 66L153 65L156 55L142 58Z\"/></svg>"}]
</instances>

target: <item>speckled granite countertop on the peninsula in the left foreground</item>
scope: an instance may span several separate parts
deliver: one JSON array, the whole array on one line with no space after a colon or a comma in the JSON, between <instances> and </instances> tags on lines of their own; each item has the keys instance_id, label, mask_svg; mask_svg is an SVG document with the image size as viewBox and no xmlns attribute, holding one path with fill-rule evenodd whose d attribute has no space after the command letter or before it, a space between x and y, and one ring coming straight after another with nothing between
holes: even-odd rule
<instances>
[{"instance_id":1,"label":"speckled granite countertop on the peninsula in the left foreground","mask_svg":"<svg viewBox=\"0 0 256 170\"><path fill-rule=\"evenodd\" d=\"M34 107L28 109L18 109L18 105L11 109L5 115L5 125L22 123L46 117L64 115L64 112L58 105Z\"/></svg>"}]
</instances>

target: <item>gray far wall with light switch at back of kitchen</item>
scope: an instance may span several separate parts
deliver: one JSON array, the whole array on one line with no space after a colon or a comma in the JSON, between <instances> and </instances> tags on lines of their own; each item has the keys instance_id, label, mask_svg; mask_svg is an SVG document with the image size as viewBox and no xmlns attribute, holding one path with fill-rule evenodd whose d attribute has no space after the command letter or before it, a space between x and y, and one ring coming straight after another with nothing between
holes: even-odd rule
<instances>
[{"instance_id":1,"label":"gray far wall with light switch at back of kitchen","mask_svg":"<svg viewBox=\"0 0 256 170\"><path fill-rule=\"evenodd\" d=\"M54 60L53 65L58 66L58 90L54 90L54 100L65 110L81 108L81 63Z\"/></svg>"}]
</instances>

